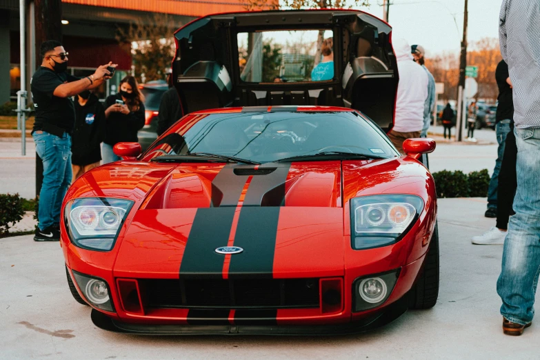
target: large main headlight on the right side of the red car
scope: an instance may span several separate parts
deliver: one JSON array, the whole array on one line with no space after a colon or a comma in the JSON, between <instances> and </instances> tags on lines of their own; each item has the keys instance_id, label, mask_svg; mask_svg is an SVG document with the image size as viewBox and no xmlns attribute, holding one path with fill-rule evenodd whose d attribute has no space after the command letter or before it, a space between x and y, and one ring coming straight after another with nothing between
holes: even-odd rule
<instances>
[{"instance_id":1,"label":"large main headlight on the right side of the red car","mask_svg":"<svg viewBox=\"0 0 540 360\"><path fill-rule=\"evenodd\" d=\"M351 243L355 250L396 243L423 210L414 195L375 195L350 201Z\"/></svg>"}]
</instances>

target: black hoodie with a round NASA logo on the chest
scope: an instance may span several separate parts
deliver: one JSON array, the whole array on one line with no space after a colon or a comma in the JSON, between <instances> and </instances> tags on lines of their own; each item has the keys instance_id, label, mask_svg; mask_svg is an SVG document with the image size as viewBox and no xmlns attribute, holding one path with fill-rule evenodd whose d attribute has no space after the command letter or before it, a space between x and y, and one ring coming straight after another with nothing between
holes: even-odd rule
<instances>
[{"instance_id":1,"label":"black hoodie with a round NASA logo on the chest","mask_svg":"<svg viewBox=\"0 0 540 360\"><path fill-rule=\"evenodd\" d=\"M71 163L85 166L101 160L101 141L105 136L105 109L94 94L84 106L78 97L75 104L75 126L71 140Z\"/></svg>"}]
</instances>

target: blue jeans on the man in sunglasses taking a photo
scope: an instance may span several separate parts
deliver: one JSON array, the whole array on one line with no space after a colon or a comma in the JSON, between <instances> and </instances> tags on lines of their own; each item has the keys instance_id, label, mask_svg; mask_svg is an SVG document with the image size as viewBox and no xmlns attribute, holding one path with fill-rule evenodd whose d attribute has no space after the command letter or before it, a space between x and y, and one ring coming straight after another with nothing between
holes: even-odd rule
<instances>
[{"instance_id":1,"label":"blue jeans on the man in sunglasses taking a photo","mask_svg":"<svg viewBox=\"0 0 540 360\"><path fill-rule=\"evenodd\" d=\"M41 133L40 133L41 132ZM32 134L36 152L43 161L43 184L39 192L39 228L59 225L63 197L70 186L71 137L64 132L63 137L36 131Z\"/></svg>"}]
</instances>

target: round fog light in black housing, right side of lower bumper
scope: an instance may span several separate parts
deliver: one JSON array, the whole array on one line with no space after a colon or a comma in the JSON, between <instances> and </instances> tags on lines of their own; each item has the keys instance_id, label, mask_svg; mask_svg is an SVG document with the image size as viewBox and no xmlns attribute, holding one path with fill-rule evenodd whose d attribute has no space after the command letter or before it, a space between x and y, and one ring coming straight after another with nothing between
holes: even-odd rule
<instances>
[{"instance_id":1,"label":"round fog light in black housing, right side of lower bumper","mask_svg":"<svg viewBox=\"0 0 540 360\"><path fill-rule=\"evenodd\" d=\"M394 290L398 276L399 269L354 280L352 311L364 311L382 305Z\"/></svg>"}]
</instances>

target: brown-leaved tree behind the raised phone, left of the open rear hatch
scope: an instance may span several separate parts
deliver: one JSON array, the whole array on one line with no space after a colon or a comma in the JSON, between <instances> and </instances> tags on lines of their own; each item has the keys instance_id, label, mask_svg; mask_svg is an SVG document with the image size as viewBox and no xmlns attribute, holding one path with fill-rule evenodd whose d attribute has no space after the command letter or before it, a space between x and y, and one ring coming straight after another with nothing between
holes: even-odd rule
<instances>
[{"instance_id":1,"label":"brown-leaved tree behind the raised phone, left of the open rear hatch","mask_svg":"<svg viewBox=\"0 0 540 360\"><path fill-rule=\"evenodd\" d=\"M168 14L154 13L117 29L117 41L132 55L137 81L166 79L174 57L174 30L180 27Z\"/></svg>"}]
</instances>

